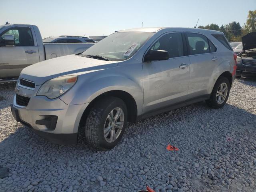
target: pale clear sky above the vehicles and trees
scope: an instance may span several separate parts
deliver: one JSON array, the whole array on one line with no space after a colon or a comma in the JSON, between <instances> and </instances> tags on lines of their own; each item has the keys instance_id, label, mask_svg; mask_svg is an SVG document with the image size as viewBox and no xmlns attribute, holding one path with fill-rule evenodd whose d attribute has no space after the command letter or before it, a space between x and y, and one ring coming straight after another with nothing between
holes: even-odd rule
<instances>
[{"instance_id":1,"label":"pale clear sky above the vehicles and trees","mask_svg":"<svg viewBox=\"0 0 256 192\"><path fill-rule=\"evenodd\" d=\"M256 0L0 0L0 24L34 24L42 37L109 35L144 27L246 22Z\"/></svg>"}]
</instances>

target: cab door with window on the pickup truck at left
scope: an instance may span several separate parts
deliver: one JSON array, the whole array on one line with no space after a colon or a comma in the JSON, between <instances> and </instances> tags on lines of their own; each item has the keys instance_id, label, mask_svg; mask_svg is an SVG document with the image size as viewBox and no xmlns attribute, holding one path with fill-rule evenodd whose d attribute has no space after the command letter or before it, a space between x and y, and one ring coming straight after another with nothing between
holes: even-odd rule
<instances>
[{"instance_id":1,"label":"cab door with window on the pickup truck at left","mask_svg":"<svg viewBox=\"0 0 256 192\"><path fill-rule=\"evenodd\" d=\"M34 31L30 27L11 27L0 34L14 35L15 46L0 47L0 78L18 77L26 66L39 62Z\"/></svg>"}]
</instances>

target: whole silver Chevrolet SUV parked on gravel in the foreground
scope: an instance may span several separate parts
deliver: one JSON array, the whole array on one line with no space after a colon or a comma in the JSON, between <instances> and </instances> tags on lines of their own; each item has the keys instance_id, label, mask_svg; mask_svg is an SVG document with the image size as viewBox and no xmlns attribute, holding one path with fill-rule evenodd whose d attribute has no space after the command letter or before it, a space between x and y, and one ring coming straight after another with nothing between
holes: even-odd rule
<instances>
[{"instance_id":1,"label":"whole silver Chevrolet SUV parked on gravel in the foreground","mask_svg":"<svg viewBox=\"0 0 256 192\"><path fill-rule=\"evenodd\" d=\"M88 50L22 70L14 118L40 136L74 144L78 131L113 148L127 122L205 100L221 108L236 75L222 32L195 28L118 31Z\"/></svg>"}]
</instances>

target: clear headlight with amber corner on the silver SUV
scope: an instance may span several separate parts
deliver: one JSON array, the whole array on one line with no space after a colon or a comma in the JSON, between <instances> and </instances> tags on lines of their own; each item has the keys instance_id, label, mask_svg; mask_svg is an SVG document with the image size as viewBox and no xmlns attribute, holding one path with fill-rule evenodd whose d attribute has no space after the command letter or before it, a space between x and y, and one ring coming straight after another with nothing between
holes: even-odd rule
<instances>
[{"instance_id":1,"label":"clear headlight with amber corner on the silver SUV","mask_svg":"<svg viewBox=\"0 0 256 192\"><path fill-rule=\"evenodd\" d=\"M77 80L77 75L57 77L46 81L36 95L46 96L49 99L57 98L67 92Z\"/></svg>"}]
</instances>

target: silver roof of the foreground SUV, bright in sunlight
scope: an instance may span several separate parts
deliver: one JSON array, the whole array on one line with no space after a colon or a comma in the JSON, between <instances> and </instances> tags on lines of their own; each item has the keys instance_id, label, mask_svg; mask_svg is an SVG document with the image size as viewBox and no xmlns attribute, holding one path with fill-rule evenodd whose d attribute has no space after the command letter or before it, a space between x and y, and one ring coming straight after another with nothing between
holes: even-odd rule
<instances>
[{"instance_id":1,"label":"silver roof of the foreground SUV, bright in sunlight","mask_svg":"<svg viewBox=\"0 0 256 192\"><path fill-rule=\"evenodd\" d=\"M183 28L183 27L150 27L150 28L134 28L134 29L127 29L121 30L120 32L158 32L160 30L170 30L170 31L186 31L186 32L211 32L214 34L223 34L220 31L215 30L208 30L208 29L199 29L199 28Z\"/></svg>"}]
</instances>

